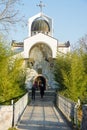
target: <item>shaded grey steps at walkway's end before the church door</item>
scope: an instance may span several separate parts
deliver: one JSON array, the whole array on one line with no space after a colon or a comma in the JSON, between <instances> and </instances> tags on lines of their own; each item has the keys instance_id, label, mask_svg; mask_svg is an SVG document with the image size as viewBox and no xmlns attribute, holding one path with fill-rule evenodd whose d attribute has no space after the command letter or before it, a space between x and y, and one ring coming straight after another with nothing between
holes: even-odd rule
<instances>
[{"instance_id":1,"label":"shaded grey steps at walkway's end before the church door","mask_svg":"<svg viewBox=\"0 0 87 130\"><path fill-rule=\"evenodd\" d=\"M32 91L31 90L29 90L29 98L32 100ZM35 102L45 102L45 103L51 102L54 104L55 100L56 100L56 91L55 90L45 90L43 99L41 99L40 91L36 90Z\"/></svg>"}]
</instances>

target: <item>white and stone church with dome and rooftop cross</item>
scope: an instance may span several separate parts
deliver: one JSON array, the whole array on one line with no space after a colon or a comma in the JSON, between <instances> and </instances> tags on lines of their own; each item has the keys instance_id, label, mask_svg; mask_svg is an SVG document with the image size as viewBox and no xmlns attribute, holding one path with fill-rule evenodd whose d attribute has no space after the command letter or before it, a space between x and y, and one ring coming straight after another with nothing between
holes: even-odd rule
<instances>
[{"instance_id":1,"label":"white and stone church with dome and rooftop cross","mask_svg":"<svg viewBox=\"0 0 87 130\"><path fill-rule=\"evenodd\" d=\"M70 52L69 41L60 43L53 36L53 20L42 12L43 3L38 5L40 13L29 18L29 34L23 42L12 41L12 50L15 56L22 56L26 67L26 88L29 89L33 82L41 80L46 89L55 88L53 68L57 53Z\"/></svg>"}]
</instances>

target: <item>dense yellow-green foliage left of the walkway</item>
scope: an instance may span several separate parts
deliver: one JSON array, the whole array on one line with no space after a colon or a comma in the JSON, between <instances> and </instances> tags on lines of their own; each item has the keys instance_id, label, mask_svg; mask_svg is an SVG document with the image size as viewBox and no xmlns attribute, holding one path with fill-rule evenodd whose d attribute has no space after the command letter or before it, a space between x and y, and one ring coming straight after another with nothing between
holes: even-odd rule
<instances>
[{"instance_id":1,"label":"dense yellow-green foliage left of the walkway","mask_svg":"<svg viewBox=\"0 0 87 130\"><path fill-rule=\"evenodd\" d=\"M9 49L0 43L0 102L25 93L23 59L15 59Z\"/></svg>"}]
</instances>

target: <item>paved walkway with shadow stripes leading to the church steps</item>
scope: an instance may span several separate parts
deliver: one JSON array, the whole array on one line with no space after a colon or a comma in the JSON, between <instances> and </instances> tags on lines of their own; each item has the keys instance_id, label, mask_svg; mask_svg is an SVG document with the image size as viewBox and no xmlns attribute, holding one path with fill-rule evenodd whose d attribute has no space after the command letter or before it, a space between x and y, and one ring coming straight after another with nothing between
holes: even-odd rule
<instances>
[{"instance_id":1,"label":"paved walkway with shadow stripes leading to the church steps","mask_svg":"<svg viewBox=\"0 0 87 130\"><path fill-rule=\"evenodd\" d=\"M52 102L32 101L24 111L18 130L71 130L60 111Z\"/></svg>"}]
</instances>

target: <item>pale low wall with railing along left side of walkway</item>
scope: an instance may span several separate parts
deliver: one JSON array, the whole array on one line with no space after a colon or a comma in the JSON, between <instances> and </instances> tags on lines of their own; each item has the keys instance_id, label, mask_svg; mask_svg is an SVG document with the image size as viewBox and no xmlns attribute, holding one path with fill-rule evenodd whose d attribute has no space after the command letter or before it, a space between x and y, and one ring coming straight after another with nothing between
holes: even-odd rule
<instances>
[{"instance_id":1,"label":"pale low wall with railing along left side of walkway","mask_svg":"<svg viewBox=\"0 0 87 130\"><path fill-rule=\"evenodd\" d=\"M28 103L28 93L13 105L0 105L0 130L15 126Z\"/></svg>"}]
</instances>

